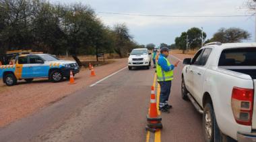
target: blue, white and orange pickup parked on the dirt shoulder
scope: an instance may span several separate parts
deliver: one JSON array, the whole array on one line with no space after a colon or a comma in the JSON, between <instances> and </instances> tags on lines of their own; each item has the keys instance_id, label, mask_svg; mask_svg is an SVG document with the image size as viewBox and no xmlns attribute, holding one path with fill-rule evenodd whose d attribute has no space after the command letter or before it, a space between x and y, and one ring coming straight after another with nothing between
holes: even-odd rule
<instances>
[{"instance_id":1,"label":"blue, white and orange pickup parked on the dirt shoulder","mask_svg":"<svg viewBox=\"0 0 256 142\"><path fill-rule=\"evenodd\" d=\"M76 62L59 60L50 54L23 54L16 56L15 64L0 66L0 78L7 86L13 86L17 80L32 82L34 78L49 78L52 82L60 82L79 72Z\"/></svg>"}]
</instances>

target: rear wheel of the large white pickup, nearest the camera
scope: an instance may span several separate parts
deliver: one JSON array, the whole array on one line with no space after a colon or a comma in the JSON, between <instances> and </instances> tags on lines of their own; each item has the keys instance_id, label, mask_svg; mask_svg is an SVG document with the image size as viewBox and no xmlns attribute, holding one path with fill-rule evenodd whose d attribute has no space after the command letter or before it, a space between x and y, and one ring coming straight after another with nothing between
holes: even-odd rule
<instances>
[{"instance_id":1,"label":"rear wheel of the large white pickup, nearest the camera","mask_svg":"<svg viewBox=\"0 0 256 142\"><path fill-rule=\"evenodd\" d=\"M221 141L222 139L214 109L210 102L207 102L203 109L203 135L207 142Z\"/></svg>"}]
</instances>

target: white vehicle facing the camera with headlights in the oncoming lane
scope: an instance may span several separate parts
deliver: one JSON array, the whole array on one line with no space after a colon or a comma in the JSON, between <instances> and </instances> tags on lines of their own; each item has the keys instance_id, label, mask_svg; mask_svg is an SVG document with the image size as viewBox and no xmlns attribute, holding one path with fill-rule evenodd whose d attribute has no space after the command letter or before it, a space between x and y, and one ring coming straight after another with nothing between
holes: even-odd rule
<instances>
[{"instance_id":1,"label":"white vehicle facing the camera with headlights in the oncoming lane","mask_svg":"<svg viewBox=\"0 0 256 142\"><path fill-rule=\"evenodd\" d=\"M133 67L146 66L150 69L151 66L151 53L147 48L137 48L131 51L128 58L128 68L131 70Z\"/></svg>"}]
</instances>

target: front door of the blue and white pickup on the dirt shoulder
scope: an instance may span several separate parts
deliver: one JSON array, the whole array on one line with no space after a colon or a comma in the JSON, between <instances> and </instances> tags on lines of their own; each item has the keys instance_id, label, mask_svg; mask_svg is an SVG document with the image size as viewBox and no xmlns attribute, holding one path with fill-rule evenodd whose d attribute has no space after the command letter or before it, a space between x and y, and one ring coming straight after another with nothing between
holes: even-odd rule
<instances>
[{"instance_id":1,"label":"front door of the blue and white pickup on the dirt shoulder","mask_svg":"<svg viewBox=\"0 0 256 142\"><path fill-rule=\"evenodd\" d=\"M46 66L44 66L44 60L40 56L29 56L30 63L30 78L40 78L48 76Z\"/></svg>"}]
</instances>

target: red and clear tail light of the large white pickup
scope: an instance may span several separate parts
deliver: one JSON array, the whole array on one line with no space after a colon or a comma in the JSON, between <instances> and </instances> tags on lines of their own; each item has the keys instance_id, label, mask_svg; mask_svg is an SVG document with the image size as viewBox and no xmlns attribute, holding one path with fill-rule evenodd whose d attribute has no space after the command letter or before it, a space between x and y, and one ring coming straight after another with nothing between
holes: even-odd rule
<instances>
[{"instance_id":1,"label":"red and clear tail light of the large white pickup","mask_svg":"<svg viewBox=\"0 0 256 142\"><path fill-rule=\"evenodd\" d=\"M251 125L253 115L253 89L234 87L231 106L236 123Z\"/></svg>"}]
</instances>

